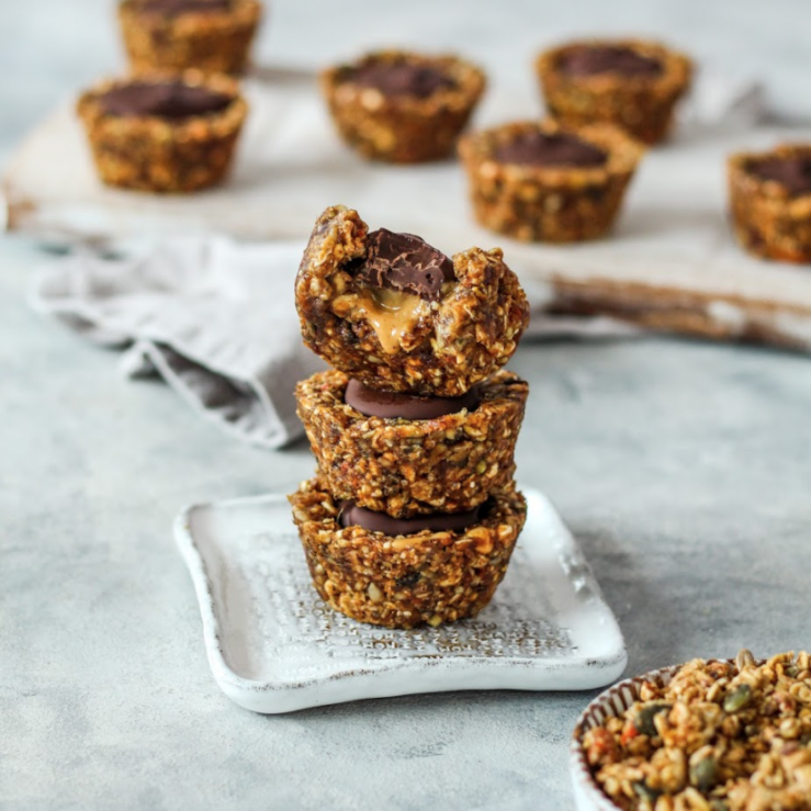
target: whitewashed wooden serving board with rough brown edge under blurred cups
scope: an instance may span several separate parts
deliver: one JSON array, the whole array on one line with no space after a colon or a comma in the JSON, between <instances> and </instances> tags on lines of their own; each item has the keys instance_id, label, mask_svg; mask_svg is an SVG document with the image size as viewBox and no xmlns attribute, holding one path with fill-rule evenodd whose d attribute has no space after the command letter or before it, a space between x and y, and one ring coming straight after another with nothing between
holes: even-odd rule
<instances>
[{"instance_id":1,"label":"whitewashed wooden serving board with rough brown edge under blurred cups","mask_svg":"<svg viewBox=\"0 0 811 811\"><path fill-rule=\"evenodd\" d=\"M609 238L523 245L475 225L455 161L390 167L349 153L312 75L266 71L245 90L251 112L230 180L190 196L102 187L72 106L57 110L9 164L9 227L59 240L178 232L303 240L324 207L343 203L371 227L419 234L448 254L499 245L536 311L811 351L811 268L743 254L726 223L724 184L729 153L811 140L809 131L683 128L645 156ZM526 101L495 87L477 124L538 115Z\"/></svg>"}]
</instances>

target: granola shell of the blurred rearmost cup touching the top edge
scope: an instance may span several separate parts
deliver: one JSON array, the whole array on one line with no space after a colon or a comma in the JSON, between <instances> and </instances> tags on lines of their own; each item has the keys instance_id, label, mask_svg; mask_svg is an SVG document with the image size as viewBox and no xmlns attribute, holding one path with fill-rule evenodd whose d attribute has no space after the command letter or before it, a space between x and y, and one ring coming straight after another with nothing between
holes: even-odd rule
<instances>
[{"instance_id":1,"label":"granola shell of the blurred rearmost cup touching the top edge","mask_svg":"<svg viewBox=\"0 0 811 811\"><path fill-rule=\"evenodd\" d=\"M240 74L262 14L258 0L235 0L233 8L145 12L137 0L119 5L119 21L133 72L181 71Z\"/></svg>"}]
</instances>

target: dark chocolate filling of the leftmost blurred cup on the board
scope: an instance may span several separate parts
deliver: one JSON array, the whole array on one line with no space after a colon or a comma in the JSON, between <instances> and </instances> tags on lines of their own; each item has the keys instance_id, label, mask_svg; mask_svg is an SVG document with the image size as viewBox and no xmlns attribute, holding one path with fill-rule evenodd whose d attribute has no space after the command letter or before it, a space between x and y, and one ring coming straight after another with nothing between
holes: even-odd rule
<instances>
[{"instance_id":1,"label":"dark chocolate filling of the leftmost blurred cup on the board","mask_svg":"<svg viewBox=\"0 0 811 811\"><path fill-rule=\"evenodd\" d=\"M209 88L184 85L182 81L133 81L99 97L108 115L137 117L155 115L178 121L193 115L218 113L230 104L232 97Z\"/></svg>"}]
</instances>

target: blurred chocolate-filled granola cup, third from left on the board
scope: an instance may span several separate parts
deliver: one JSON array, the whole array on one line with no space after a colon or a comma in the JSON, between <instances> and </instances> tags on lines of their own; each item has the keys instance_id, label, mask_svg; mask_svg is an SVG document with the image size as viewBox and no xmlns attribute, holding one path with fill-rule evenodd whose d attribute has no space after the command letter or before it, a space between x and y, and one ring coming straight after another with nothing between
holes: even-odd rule
<instances>
[{"instance_id":1,"label":"blurred chocolate-filled granola cup, third from left on the board","mask_svg":"<svg viewBox=\"0 0 811 811\"><path fill-rule=\"evenodd\" d=\"M447 157L484 92L484 74L453 56L402 50L328 68L320 85L343 140L367 158Z\"/></svg>"}]
</instances>

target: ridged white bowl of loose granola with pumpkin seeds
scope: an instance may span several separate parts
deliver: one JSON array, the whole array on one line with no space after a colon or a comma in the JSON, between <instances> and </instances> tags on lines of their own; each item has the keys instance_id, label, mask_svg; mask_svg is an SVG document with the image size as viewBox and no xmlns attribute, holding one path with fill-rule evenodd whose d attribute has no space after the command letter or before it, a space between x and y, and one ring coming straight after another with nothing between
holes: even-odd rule
<instances>
[{"instance_id":1,"label":"ridged white bowl of loose granola with pumpkin seeds","mask_svg":"<svg viewBox=\"0 0 811 811\"><path fill-rule=\"evenodd\" d=\"M578 811L808 811L811 654L620 682L581 716L570 765Z\"/></svg>"}]
</instances>

